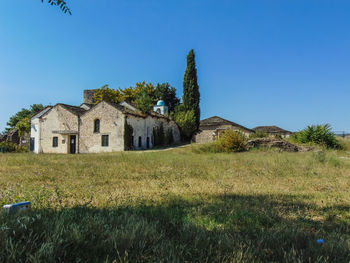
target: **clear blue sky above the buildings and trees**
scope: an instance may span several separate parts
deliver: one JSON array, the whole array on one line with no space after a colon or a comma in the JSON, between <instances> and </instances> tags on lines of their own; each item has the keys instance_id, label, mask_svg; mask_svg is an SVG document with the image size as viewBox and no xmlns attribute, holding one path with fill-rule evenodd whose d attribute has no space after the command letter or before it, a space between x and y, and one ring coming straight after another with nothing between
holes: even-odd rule
<instances>
[{"instance_id":1,"label":"clear blue sky above the buildings and trees","mask_svg":"<svg viewBox=\"0 0 350 263\"><path fill-rule=\"evenodd\" d=\"M202 118L350 131L350 1L0 1L0 130L33 103L169 82L196 52Z\"/></svg>"}]
</instances>

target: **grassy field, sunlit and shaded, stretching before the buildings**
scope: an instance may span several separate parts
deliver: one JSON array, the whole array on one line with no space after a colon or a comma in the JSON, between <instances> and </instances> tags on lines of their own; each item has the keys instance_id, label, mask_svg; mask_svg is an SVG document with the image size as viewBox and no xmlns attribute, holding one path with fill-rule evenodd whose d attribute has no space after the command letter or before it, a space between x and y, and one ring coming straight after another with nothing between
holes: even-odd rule
<instances>
[{"instance_id":1,"label":"grassy field, sunlit and shaded, stretching before the buildings","mask_svg":"<svg viewBox=\"0 0 350 263\"><path fill-rule=\"evenodd\" d=\"M345 151L0 154L0 205L33 204L0 262L349 262L349 189Z\"/></svg>"}]
</instances>

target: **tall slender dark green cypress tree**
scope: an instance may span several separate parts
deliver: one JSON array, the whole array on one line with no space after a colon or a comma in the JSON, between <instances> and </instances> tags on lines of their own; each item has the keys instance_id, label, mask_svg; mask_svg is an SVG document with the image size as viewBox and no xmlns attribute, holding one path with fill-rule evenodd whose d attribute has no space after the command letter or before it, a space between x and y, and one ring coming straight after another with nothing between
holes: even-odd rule
<instances>
[{"instance_id":1,"label":"tall slender dark green cypress tree","mask_svg":"<svg viewBox=\"0 0 350 263\"><path fill-rule=\"evenodd\" d=\"M199 128L200 109L199 109L199 87L197 83L197 69L193 49L187 55L187 67L183 81L182 101L186 110L193 110L196 118L196 127Z\"/></svg>"}]
</instances>

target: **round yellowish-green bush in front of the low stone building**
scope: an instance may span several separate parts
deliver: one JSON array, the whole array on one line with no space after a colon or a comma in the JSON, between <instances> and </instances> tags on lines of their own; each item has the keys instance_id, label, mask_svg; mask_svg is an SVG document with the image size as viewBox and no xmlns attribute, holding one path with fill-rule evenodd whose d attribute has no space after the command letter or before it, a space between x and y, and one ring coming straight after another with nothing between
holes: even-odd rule
<instances>
[{"instance_id":1,"label":"round yellowish-green bush in front of the low stone building","mask_svg":"<svg viewBox=\"0 0 350 263\"><path fill-rule=\"evenodd\" d=\"M219 152L242 152L246 150L246 137L243 133L226 130L216 142Z\"/></svg>"}]
</instances>

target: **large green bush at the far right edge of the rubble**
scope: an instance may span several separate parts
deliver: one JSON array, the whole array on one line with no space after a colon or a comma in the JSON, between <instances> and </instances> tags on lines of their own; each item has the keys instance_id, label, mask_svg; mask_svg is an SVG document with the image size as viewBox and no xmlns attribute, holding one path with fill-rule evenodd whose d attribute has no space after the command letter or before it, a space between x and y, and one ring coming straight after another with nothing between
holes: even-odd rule
<instances>
[{"instance_id":1,"label":"large green bush at the far right edge of the rubble","mask_svg":"<svg viewBox=\"0 0 350 263\"><path fill-rule=\"evenodd\" d=\"M329 124L308 126L294 133L292 139L298 143L314 143L332 149L342 148Z\"/></svg>"}]
</instances>

